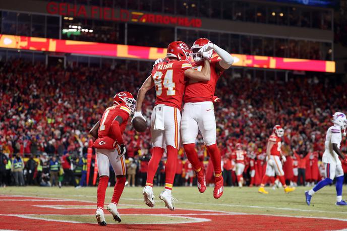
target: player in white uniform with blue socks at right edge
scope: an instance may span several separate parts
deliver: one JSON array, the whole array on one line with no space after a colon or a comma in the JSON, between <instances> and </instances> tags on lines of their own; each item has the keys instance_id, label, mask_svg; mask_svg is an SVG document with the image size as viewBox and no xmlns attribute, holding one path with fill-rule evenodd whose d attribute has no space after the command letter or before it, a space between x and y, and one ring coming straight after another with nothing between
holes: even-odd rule
<instances>
[{"instance_id":1,"label":"player in white uniform with blue socks at right edge","mask_svg":"<svg viewBox=\"0 0 347 231\"><path fill-rule=\"evenodd\" d=\"M306 203L310 205L312 196L315 192L323 188L324 186L331 185L332 181L336 177L336 205L347 205L342 200L342 184L343 184L343 169L341 161L347 162L347 156L343 155L340 150L340 143L342 141L341 130L345 135L345 129L347 128L347 119L342 112L335 112L332 115L332 123L325 136L325 151L323 153L322 161L325 167L325 179L318 182L318 184L310 191L305 192Z\"/></svg>"}]
</instances>

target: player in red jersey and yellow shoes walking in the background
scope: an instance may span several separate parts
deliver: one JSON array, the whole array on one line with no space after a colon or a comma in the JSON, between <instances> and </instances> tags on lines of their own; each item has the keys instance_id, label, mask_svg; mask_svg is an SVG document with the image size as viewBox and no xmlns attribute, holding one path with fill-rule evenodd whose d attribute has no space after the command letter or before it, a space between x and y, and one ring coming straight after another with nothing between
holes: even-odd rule
<instances>
[{"instance_id":1,"label":"player in red jersey and yellow shoes walking in the background","mask_svg":"<svg viewBox=\"0 0 347 231\"><path fill-rule=\"evenodd\" d=\"M295 190L294 187L293 188L288 187L285 184L284 171L282 169L282 162L279 159L281 158L283 162L285 162L286 160L281 150L281 137L283 135L284 135L284 130L282 129L281 126L276 125L275 127L273 127L272 134L266 146L266 160L267 160L266 172L261 182L260 188L258 190L259 193L268 194L268 192L265 191L264 186L269 180L269 177L274 176L274 172L276 172L276 175L278 176L279 181L281 182L285 193L290 193Z\"/></svg>"}]
</instances>

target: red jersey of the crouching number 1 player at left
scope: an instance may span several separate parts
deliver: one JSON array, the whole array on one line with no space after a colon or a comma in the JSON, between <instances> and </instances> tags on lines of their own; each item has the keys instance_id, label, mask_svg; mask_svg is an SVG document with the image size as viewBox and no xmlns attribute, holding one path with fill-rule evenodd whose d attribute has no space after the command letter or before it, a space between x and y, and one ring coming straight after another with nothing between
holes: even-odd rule
<instances>
[{"instance_id":1,"label":"red jersey of the crouching number 1 player at left","mask_svg":"<svg viewBox=\"0 0 347 231\"><path fill-rule=\"evenodd\" d=\"M128 106L126 105L115 105L108 107L102 115L101 121L100 121L100 127L98 130L98 138L102 137L110 137L115 140L114 135L111 131L111 124L112 121L117 117L120 116L123 119L122 124L120 124L121 133L123 134L127 123L128 118L131 114L131 111Z\"/></svg>"}]
</instances>

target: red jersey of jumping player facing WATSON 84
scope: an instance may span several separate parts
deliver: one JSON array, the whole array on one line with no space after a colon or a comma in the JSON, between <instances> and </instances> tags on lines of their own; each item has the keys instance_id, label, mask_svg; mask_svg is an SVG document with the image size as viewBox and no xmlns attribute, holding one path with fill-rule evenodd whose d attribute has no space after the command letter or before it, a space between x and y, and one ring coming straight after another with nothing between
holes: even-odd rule
<instances>
[{"instance_id":1,"label":"red jersey of jumping player facing WATSON 84","mask_svg":"<svg viewBox=\"0 0 347 231\"><path fill-rule=\"evenodd\" d=\"M185 103L188 102L204 102L212 101L217 81L223 73L216 72L216 65L219 63L220 57L215 56L211 59L211 79L208 82L192 82L188 83L184 95ZM204 63L193 64L193 69L201 71Z\"/></svg>"}]
</instances>

